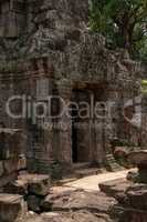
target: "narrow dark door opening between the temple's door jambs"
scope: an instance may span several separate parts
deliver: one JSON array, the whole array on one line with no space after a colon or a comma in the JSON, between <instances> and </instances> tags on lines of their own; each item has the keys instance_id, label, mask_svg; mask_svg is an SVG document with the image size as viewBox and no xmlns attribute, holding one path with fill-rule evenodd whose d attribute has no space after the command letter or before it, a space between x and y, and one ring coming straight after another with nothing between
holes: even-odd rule
<instances>
[{"instance_id":1,"label":"narrow dark door opening between the temple's door jambs","mask_svg":"<svg viewBox=\"0 0 147 222\"><path fill-rule=\"evenodd\" d=\"M85 90L74 90L73 101L82 109L82 102L90 103L91 93ZM84 111L82 113L84 115ZM72 161L88 162L91 159L91 129L90 118L81 118L80 110L72 107Z\"/></svg>"}]
</instances>

